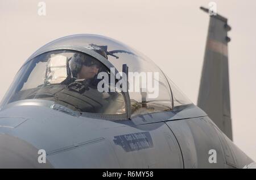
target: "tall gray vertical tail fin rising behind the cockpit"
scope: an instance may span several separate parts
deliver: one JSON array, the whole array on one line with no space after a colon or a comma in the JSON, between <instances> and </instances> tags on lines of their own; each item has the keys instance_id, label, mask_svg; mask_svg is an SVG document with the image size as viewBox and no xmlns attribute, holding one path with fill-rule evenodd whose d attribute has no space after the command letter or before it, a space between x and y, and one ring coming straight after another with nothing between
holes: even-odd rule
<instances>
[{"instance_id":1,"label":"tall gray vertical tail fin rising behind the cockpit","mask_svg":"<svg viewBox=\"0 0 256 180\"><path fill-rule=\"evenodd\" d=\"M200 7L200 9L209 11L204 7ZM218 14L210 15L197 103L218 128L232 140L228 66L228 42L230 38L227 36L227 32L230 30L228 19Z\"/></svg>"}]
</instances>

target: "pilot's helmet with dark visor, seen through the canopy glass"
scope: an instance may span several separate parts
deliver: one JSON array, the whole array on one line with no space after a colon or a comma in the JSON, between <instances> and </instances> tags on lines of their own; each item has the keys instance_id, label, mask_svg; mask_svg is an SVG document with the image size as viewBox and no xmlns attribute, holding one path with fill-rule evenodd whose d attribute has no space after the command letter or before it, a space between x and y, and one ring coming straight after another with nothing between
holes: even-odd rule
<instances>
[{"instance_id":1,"label":"pilot's helmet with dark visor, seen through the canopy glass","mask_svg":"<svg viewBox=\"0 0 256 180\"><path fill-rule=\"evenodd\" d=\"M88 49L93 50L94 52L97 52L98 54L100 54L101 56L104 56L105 58L108 58L108 56L106 55L106 51L104 48L104 46L97 46L94 44L89 44L89 47L86 47ZM71 72L73 74L73 76L77 76L77 73L80 72L82 65L85 66L93 66L96 65L96 67L99 69L99 72L101 72L104 69L104 65L97 60L96 58L87 55L85 53L75 53L72 57L71 60L69 61L69 66L71 68Z\"/></svg>"}]
</instances>

